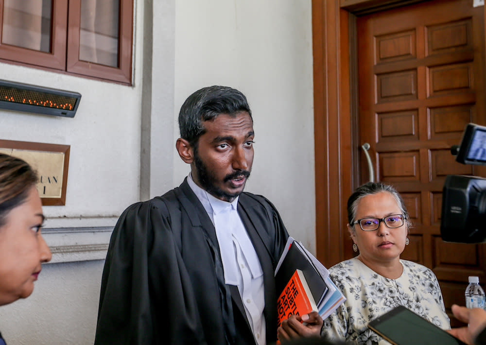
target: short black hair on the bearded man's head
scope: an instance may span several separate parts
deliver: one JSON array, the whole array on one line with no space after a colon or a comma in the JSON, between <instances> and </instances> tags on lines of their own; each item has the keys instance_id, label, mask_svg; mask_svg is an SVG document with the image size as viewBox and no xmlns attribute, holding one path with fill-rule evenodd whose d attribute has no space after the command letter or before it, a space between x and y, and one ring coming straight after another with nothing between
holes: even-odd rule
<instances>
[{"instance_id":1,"label":"short black hair on the bearded man's head","mask_svg":"<svg viewBox=\"0 0 486 345\"><path fill-rule=\"evenodd\" d=\"M204 121L214 120L220 114L236 115L246 111L251 118L251 110L245 95L228 86L208 86L194 92L182 104L179 112L181 138L192 147L204 134ZM252 118L253 121L253 118Z\"/></svg>"}]
</instances>

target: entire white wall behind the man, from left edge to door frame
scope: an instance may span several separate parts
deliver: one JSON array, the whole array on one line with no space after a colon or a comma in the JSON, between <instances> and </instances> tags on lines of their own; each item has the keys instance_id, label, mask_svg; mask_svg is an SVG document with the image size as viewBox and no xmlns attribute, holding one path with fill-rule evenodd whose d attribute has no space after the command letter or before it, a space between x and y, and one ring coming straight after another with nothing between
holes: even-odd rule
<instances>
[{"instance_id":1,"label":"entire white wall behind the man, from left edge to door frame","mask_svg":"<svg viewBox=\"0 0 486 345\"><path fill-rule=\"evenodd\" d=\"M133 86L0 63L0 79L82 94L73 119L0 110L1 139L71 145L66 206L44 207L54 228L46 240L64 251L30 298L0 308L9 344L92 344L104 251L65 250L103 247L109 232L86 228L110 228L129 204L180 184L189 167L174 149L176 117L203 86L246 94L256 132L247 190L268 197L315 250L311 0L135 4Z\"/></svg>"}]
</instances>

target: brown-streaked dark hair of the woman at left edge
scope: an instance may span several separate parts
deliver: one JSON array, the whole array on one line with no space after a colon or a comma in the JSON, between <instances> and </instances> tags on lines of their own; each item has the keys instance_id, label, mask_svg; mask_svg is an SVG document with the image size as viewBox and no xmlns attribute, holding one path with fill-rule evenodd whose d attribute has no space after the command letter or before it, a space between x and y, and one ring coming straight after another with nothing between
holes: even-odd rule
<instances>
[{"instance_id":1,"label":"brown-streaked dark hair of the woman at left edge","mask_svg":"<svg viewBox=\"0 0 486 345\"><path fill-rule=\"evenodd\" d=\"M5 225L8 212L25 202L37 174L20 158L0 154L0 226Z\"/></svg>"}]
</instances>

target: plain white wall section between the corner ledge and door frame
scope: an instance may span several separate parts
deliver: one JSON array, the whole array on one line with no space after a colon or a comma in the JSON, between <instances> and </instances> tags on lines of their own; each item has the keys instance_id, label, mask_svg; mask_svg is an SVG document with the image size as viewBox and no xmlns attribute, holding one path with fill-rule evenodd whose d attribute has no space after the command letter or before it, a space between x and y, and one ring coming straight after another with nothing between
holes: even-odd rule
<instances>
[{"instance_id":1,"label":"plain white wall section between the corner ledge and door frame","mask_svg":"<svg viewBox=\"0 0 486 345\"><path fill-rule=\"evenodd\" d=\"M203 86L246 95L256 142L246 190L269 198L315 251L311 1L176 1L175 34L176 111ZM189 169L174 157L182 181Z\"/></svg>"}]
</instances>

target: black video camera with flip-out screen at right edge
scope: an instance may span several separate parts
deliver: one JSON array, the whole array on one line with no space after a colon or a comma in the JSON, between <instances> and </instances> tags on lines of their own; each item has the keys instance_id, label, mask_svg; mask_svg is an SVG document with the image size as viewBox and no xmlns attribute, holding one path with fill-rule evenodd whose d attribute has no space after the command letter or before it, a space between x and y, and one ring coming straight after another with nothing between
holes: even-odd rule
<instances>
[{"instance_id":1,"label":"black video camera with flip-out screen at right edge","mask_svg":"<svg viewBox=\"0 0 486 345\"><path fill-rule=\"evenodd\" d=\"M463 164L486 165L486 127L469 123L452 155ZM486 242L486 178L448 175L442 190L440 234L446 242Z\"/></svg>"}]
</instances>

